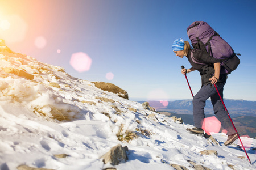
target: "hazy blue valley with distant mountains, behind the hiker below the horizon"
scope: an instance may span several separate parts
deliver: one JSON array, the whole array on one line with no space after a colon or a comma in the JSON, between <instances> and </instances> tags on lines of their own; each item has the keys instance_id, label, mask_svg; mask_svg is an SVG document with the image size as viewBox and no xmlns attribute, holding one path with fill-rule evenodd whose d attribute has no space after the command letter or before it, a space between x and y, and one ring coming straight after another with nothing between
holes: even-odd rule
<instances>
[{"instance_id":1,"label":"hazy blue valley with distant mountains, behind the hiker below the horizon","mask_svg":"<svg viewBox=\"0 0 256 170\"><path fill-rule=\"evenodd\" d=\"M139 101L143 103L144 101ZM193 125L192 100L168 101L166 107L160 101L149 101L159 113L181 117L185 124ZM224 99L229 115L240 135L256 138L256 101ZM214 116L212 104L207 100L205 116Z\"/></svg>"}]
</instances>

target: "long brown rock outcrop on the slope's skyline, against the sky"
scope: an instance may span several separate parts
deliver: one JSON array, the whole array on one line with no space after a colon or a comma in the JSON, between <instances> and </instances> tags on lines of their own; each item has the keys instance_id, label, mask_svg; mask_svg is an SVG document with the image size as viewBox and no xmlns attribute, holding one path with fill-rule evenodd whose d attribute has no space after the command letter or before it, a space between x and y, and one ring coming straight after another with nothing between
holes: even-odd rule
<instances>
[{"instance_id":1,"label":"long brown rock outcrop on the slope's skyline, against the sky","mask_svg":"<svg viewBox=\"0 0 256 170\"><path fill-rule=\"evenodd\" d=\"M122 88L115 86L112 83L105 83L105 82L92 82L92 83L95 84L95 87L100 88L101 90L113 92L114 94L118 94L119 97L128 99L127 92L125 90L122 90Z\"/></svg>"}]
</instances>

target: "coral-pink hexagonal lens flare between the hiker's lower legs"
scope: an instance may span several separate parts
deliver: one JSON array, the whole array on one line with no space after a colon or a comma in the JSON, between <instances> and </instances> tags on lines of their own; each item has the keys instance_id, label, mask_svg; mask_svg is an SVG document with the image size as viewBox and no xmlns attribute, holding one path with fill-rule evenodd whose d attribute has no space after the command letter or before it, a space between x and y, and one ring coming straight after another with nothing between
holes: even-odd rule
<instances>
[{"instance_id":1,"label":"coral-pink hexagonal lens flare between the hiker's lower legs","mask_svg":"<svg viewBox=\"0 0 256 170\"><path fill-rule=\"evenodd\" d=\"M202 129L210 135L210 133L218 133L221 128L221 122L215 117L204 118Z\"/></svg>"}]
</instances>

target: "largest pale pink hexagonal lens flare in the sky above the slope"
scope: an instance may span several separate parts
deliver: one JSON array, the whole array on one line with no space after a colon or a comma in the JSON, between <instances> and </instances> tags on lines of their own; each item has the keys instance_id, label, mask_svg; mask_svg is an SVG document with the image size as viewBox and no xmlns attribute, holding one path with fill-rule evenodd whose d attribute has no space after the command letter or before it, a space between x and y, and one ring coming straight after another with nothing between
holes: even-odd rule
<instances>
[{"instance_id":1,"label":"largest pale pink hexagonal lens flare in the sky above the slope","mask_svg":"<svg viewBox=\"0 0 256 170\"><path fill-rule=\"evenodd\" d=\"M86 53L74 53L69 61L70 65L79 73L89 71L92 59Z\"/></svg>"}]
</instances>

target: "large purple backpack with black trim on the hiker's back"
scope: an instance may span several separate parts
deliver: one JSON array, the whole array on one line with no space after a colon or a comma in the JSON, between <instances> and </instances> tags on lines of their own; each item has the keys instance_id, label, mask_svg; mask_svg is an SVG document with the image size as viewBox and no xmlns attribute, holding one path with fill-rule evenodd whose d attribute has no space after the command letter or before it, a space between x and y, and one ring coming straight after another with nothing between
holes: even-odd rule
<instances>
[{"instance_id":1,"label":"large purple backpack with black trim on the hiker's back","mask_svg":"<svg viewBox=\"0 0 256 170\"><path fill-rule=\"evenodd\" d=\"M236 70L240 64L240 59L236 56L240 56L240 54L235 54L231 46L206 22L193 22L187 28L187 34L193 48L203 50L210 56L221 60L221 66L225 68L224 72L226 74L230 74L231 71ZM193 53L191 54L193 62L205 65L204 63L200 63L200 61L196 61L193 58Z\"/></svg>"}]
</instances>

